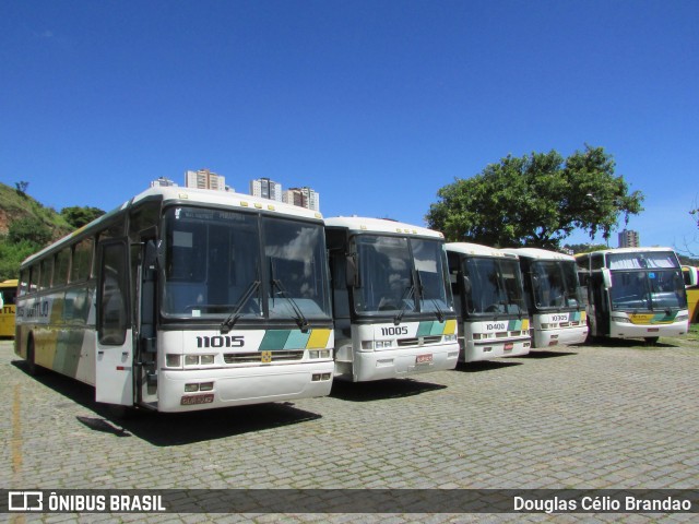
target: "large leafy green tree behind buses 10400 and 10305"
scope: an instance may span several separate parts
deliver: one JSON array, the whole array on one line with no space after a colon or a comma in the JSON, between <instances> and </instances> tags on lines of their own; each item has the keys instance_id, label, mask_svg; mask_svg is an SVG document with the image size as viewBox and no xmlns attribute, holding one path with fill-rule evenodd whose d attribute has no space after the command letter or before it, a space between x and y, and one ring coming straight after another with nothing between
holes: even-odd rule
<instances>
[{"instance_id":1,"label":"large leafy green tree behind buses 10400 and 10305","mask_svg":"<svg viewBox=\"0 0 699 524\"><path fill-rule=\"evenodd\" d=\"M558 249L576 228L608 240L620 216L627 224L643 211L642 193L629 193L614 168L604 148L589 145L568 158L555 151L509 155L441 188L426 219L450 241L494 247Z\"/></svg>"}]
</instances>

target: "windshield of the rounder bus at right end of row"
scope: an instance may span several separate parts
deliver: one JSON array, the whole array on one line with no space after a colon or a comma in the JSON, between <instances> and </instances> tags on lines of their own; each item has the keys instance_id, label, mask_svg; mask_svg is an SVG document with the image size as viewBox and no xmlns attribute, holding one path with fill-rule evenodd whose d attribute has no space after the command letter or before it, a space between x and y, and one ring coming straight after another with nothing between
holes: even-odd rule
<instances>
[{"instance_id":1,"label":"windshield of the rounder bus at right end of row","mask_svg":"<svg viewBox=\"0 0 699 524\"><path fill-rule=\"evenodd\" d=\"M612 309L685 309L687 297L674 253L611 253Z\"/></svg>"}]
</instances>

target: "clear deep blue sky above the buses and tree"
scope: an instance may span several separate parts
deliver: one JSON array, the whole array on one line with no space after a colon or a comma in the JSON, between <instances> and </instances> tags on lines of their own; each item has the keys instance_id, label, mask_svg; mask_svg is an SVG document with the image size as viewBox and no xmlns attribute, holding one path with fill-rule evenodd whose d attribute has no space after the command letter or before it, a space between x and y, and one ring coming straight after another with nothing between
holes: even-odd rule
<instances>
[{"instance_id":1,"label":"clear deep blue sky above the buses and tree","mask_svg":"<svg viewBox=\"0 0 699 524\"><path fill-rule=\"evenodd\" d=\"M111 210L206 167L423 225L455 178L588 143L645 194L643 245L699 252L698 25L695 0L3 0L0 181Z\"/></svg>"}]
</instances>

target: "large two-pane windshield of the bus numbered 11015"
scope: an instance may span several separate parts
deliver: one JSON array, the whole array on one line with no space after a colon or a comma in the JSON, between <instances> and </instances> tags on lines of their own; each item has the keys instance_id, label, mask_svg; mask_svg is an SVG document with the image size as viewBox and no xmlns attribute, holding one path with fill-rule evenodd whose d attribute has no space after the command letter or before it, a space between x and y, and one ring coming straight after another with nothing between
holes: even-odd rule
<instances>
[{"instance_id":1,"label":"large two-pane windshield of the bus numbered 11015","mask_svg":"<svg viewBox=\"0 0 699 524\"><path fill-rule=\"evenodd\" d=\"M294 319L299 325L330 318L320 224L173 207L164 245L165 315Z\"/></svg>"}]
</instances>

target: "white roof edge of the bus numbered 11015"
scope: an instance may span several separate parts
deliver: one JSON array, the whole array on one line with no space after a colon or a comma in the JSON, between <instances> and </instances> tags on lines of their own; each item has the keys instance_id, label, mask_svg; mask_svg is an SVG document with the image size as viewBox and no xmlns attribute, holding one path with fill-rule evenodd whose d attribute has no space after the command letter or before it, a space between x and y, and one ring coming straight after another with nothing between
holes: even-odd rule
<instances>
[{"instance_id":1,"label":"white roof edge of the bus numbered 11015","mask_svg":"<svg viewBox=\"0 0 699 524\"><path fill-rule=\"evenodd\" d=\"M139 202L145 201L151 198L163 198L163 203L167 203L168 201L177 201L186 205L187 202L191 202L192 204L211 204L214 206L228 206L232 209L238 209L240 211L251 210L251 211L263 211L268 214L280 214L285 215L287 217L300 217L307 219L322 221L322 215L312 210L307 210L306 207L300 207L297 205L285 204L283 202L276 202L274 200L260 199L257 196L252 196L250 194L241 194L235 193L233 191L214 191L210 189L194 189L194 188L180 188L180 187L154 187L149 188L145 191L137 194L133 199L128 200L119 207L111 210L109 213L102 215L99 218L86 224L80 229L74 230L73 233L67 235L66 237L55 241L54 243L47 246L40 251L27 257L22 262L22 267L24 267L27 263L33 262L36 259L39 259L44 254L59 249L66 243L69 243L74 237L79 236L83 230L93 229L99 223L107 223L111 217L114 217L119 212L127 210L128 207L138 204Z\"/></svg>"}]
</instances>

